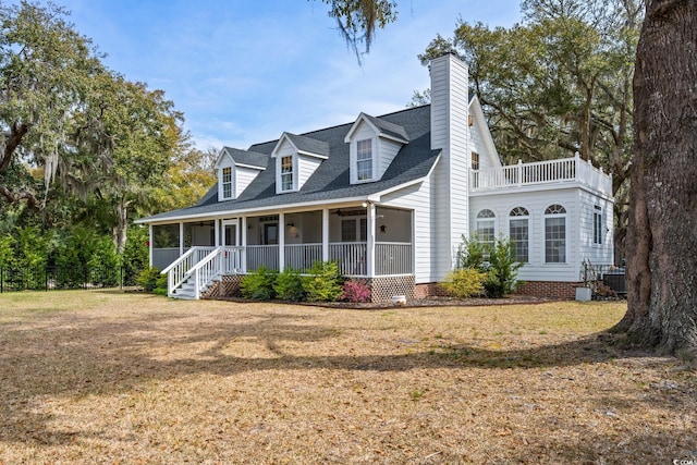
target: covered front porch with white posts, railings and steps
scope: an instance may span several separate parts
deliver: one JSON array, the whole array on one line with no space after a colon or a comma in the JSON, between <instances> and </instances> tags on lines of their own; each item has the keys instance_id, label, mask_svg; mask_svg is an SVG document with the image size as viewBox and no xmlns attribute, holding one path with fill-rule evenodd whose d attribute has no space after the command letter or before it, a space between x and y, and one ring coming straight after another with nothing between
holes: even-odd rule
<instances>
[{"instance_id":1,"label":"covered front porch with white posts, railings and steps","mask_svg":"<svg viewBox=\"0 0 697 465\"><path fill-rule=\"evenodd\" d=\"M150 265L170 277L171 295L222 276L266 267L301 272L335 261L348 278L413 276L413 211L372 203L265 211L150 225Z\"/></svg>"}]
</instances>

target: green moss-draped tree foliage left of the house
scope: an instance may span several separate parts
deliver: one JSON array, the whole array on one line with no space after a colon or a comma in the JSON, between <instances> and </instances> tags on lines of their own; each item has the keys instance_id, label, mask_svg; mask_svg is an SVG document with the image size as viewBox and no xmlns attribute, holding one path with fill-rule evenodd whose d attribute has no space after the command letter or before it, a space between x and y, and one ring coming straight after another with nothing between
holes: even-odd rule
<instances>
[{"instance_id":1,"label":"green moss-draped tree foliage left of the house","mask_svg":"<svg viewBox=\"0 0 697 465\"><path fill-rule=\"evenodd\" d=\"M89 206L121 252L129 211L183 150L182 115L108 70L66 17L52 3L0 5L0 209L40 209L49 228Z\"/></svg>"}]
</instances>

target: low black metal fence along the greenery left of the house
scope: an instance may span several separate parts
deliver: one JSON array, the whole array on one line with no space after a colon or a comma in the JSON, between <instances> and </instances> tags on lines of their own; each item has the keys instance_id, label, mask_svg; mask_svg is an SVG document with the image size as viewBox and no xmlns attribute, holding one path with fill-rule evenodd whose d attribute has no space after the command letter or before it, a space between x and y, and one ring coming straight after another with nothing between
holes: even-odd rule
<instances>
[{"instance_id":1,"label":"low black metal fence along the greenery left of the house","mask_svg":"<svg viewBox=\"0 0 697 465\"><path fill-rule=\"evenodd\" d=\"M130 267L0 267L0 293L66 289L122 289L136 284Z\"/></svg>"}]
</instances>

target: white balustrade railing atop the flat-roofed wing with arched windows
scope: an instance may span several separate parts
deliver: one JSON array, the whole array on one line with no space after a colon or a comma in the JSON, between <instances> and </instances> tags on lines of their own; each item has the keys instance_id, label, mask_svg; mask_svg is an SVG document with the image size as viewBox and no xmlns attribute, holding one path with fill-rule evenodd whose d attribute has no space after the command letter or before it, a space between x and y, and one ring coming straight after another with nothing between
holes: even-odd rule
<instances>
[{"instance_id":1,"label":"white balustrade railing atop the flat-roofed wing with arched windows","mask_svg":"<svg viewBox=\"0 0 697 465\"><path fill-rule=\"evenodd\" d=\"M518 161L517 164L501 168L473 170L469 179L473 193L562 183L584 184L612 196L612 176L578 156L533 163Z\"/></svg>"}]
</instances>

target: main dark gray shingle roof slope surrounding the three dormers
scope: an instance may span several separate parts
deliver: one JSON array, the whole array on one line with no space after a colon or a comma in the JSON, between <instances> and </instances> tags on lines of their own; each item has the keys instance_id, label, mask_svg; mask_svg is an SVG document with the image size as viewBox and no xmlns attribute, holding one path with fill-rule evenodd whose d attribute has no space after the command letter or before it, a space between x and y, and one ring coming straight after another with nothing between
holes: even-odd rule
<instances>
[{"instance_id":1,"label":"main dark gray shingle roof slope surrounding the three dormers","mask_svg":"<svg viewBox=\"0 0 697 465\"><path fill-rule=\"evenodd\" d=\"M303 139L302 144L316 140L329 147L329 158L322 160L298 192L277 194L276 163L268 163L267 169L261 171L242 195L234 200L218 201L218 185L216 184L195 206L154 215L139 220L139 222L192 216L213 216L222 211L282 208L284 205L322 203L353 197L365 198L371 194L426 176L440 154L440 150L431 150L430 148L430 106L384 114L376 120L382 124L382 129L389 130L391 127L393 130L395 126L401 126L404 139L409 140L394 157L380 181L351 184L348 144L344 143L344 137L353 125L351 122L295 136ZM256 144L249 147L249 151L269 157L277 144L278 140Z\"/></svg>"}]
</instances>

